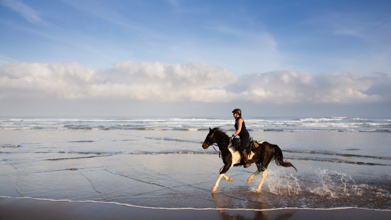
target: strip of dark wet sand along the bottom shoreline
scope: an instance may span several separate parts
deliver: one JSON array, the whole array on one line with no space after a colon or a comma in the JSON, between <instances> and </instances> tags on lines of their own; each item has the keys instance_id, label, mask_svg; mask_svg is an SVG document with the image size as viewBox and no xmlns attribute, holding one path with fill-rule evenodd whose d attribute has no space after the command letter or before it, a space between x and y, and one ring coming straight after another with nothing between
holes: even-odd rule
<instances>
[{"instance_id":1,"label":"strip of dark wet sand along the bottom shoreline","mask_svg":"<svg viewBox=\"0 0 391 220\"><path fill-rule=\"evenodd\" d=\"M173 210L110 203L0 198L0 220L7 219L391 219L391 211L358 208Z\"/></svg>"}]
</instances>

